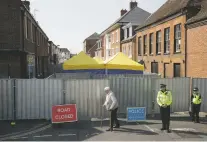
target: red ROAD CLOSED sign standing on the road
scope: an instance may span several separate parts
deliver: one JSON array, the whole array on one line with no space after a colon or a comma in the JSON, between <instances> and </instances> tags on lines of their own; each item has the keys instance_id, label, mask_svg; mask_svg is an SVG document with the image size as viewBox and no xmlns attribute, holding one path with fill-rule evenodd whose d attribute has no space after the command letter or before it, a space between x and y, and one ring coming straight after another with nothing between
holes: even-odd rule
<instances>
[{"instance_id":1,"label":"red ROAD CLOSED sign standing on the road","mask_svg":"<svg viewBox=\"0 0 207 142\"><path fill-rule=\"evenodd\" d=\"M52 123L78 121L76 104L52 106Z\"/></svg>"}]
</instances>

